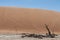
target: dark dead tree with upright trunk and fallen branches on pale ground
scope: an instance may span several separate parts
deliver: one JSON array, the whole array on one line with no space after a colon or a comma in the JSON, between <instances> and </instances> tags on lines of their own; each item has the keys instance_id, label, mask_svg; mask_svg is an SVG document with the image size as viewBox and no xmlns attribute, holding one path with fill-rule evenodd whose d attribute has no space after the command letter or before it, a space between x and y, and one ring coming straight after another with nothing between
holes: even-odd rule
<instances>
[{"instance_id":1,"label":"dark dead tree with upright trunk and fallen branches on pale ground","mask_svg":"<svg viewBox=\"0 0 60 40\"><path fill-rule=\"evenodd\" d=\"M22 33L22 36L21 37L22 38L24 38L24 37L33 37L33 38L43 39L43 38L55 38L56 36L58 36L57 34L52 34L51 33L51 31L48 28L48 25L45 24L45 28L48 31L48 33L46 33L46 35Z\"/></svg>"}]
</instances>

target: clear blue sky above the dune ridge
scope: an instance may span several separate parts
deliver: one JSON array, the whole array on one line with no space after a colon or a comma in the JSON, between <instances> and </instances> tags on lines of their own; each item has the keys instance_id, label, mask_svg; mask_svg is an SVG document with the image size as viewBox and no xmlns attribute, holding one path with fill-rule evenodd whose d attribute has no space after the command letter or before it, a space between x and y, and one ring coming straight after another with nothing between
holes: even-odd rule
<instances>
[{"instance_id":1,"label":"clear blue sky above the dune ridge","mask_svg":"<svg viewBox=\"0 0 60 40\"><path fill-rule=\"evenodd\" d=\"M60 12L60 0L0 0L0 6L41 8Z\"/></svg>"}]
</instances>

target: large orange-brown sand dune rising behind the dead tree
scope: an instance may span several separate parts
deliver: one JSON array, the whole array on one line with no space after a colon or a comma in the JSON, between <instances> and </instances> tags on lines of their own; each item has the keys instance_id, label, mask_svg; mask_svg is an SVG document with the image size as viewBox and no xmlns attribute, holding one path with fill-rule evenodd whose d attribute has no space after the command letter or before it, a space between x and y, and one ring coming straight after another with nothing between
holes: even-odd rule
<instances>
[{"instance_id":1,"label":"large orange-brown sand dune rising behind the dead tree","mask_svg":"<svg viewBox=\"0 0 60 40\"><path fill-rule=\"evenodd\" d=\"M60 33L60 13L32 8L0 7L0 33Z\"/></svg>"}]
</instances>

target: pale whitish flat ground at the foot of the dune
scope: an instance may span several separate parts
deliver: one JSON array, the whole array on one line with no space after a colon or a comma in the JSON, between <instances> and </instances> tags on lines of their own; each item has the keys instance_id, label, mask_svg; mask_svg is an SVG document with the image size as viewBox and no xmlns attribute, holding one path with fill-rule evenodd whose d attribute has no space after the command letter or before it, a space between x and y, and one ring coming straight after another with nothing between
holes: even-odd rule
<instances>
[{"instance_id":1,"label":"pale whitish flat ground at the foot of the dune","mask_svg":"<svg viewBox=\"0 0 60 40\"><path fill-rule=\"evenodd\" d=\"M21 35L1 35L0 34L0 40L60 40L60 35L56 36L56 38L43 38L43 39L38 39L38 38L21 38Z\"/></svg>"}]
</instances>

